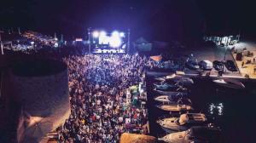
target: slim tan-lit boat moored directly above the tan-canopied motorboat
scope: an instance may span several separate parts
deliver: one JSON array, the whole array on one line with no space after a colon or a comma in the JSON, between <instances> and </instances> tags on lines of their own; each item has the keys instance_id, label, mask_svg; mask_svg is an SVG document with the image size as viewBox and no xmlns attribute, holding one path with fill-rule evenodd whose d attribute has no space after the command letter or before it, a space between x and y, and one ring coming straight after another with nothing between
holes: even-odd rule
<instances>
[{"instance_id":1,"label":"slim tan-lit boat moored directly above the tan-canopied motorboat","mask_svg":"<svg viewBox=\"0 0 256 143\"><path fill-rule=\"evenodd\" d=\"M179 105L177 103L172 103L168 105L158 105L157 107L166 112L182 112L182 111L189 112L193 110L192 106L184 105L184 104Z\"/></svg>"}]
</instances>

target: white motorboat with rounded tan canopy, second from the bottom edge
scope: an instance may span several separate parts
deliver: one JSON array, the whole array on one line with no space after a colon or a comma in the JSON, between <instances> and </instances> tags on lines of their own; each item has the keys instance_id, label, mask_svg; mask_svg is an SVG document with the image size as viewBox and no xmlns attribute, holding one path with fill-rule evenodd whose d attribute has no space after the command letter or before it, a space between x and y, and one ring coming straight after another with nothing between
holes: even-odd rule
<instances>
[{"instance_id":1,"label":"white motorboat with rounded tan canopy, second from the bottom edge","mask_svg":"<svg viewBox=\"0 0 256 143\"><path fill-rule=\"evenodd\" d=\"M207 117L202 113L185 113L180 117L168 117L156 121L167 133L184 131L193 125L203 125L206 122Z\"/></svg>"}]
</instances>

